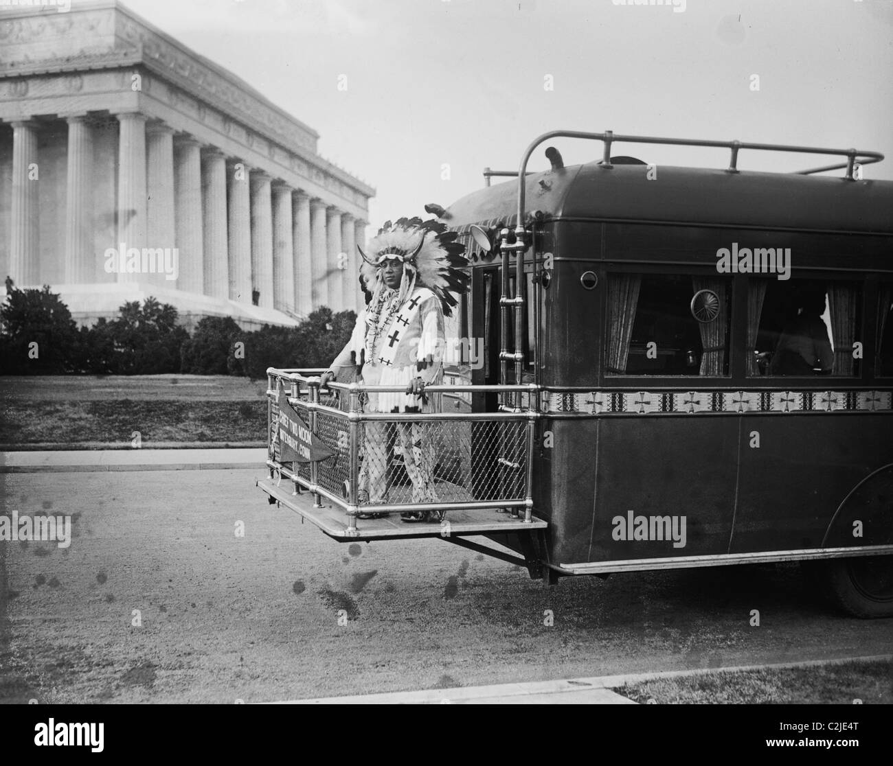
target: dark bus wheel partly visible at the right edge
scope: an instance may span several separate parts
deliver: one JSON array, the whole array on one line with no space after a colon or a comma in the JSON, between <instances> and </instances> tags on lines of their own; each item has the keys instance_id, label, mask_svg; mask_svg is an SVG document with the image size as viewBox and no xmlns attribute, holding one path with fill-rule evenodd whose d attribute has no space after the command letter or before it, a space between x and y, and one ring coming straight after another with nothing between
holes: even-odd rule
<instances>
[{"instance_id":1,"label":"dark bus wheel partly visible at the right edge","mask_svg":"<svg viewBox=\"0 0 893 766\"><path fill-rule=\"evenodd\" d=\"M893 556L822 562L831 598L856 617L893 617Z\"/></svg>"}]
</instances>

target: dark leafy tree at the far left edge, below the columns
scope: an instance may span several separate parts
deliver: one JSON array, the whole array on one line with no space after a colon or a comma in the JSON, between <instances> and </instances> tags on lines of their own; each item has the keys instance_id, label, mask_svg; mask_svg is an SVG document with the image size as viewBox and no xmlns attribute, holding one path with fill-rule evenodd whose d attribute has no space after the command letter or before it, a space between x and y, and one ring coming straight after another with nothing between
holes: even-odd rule
<instances>
[{"instance_id":1,"label":"dark leafy tree at the far left edge, below the columns","mask_svg":"<svg viewBox=\"0 0 893 766\"><path fill-rule=\"evenodd\" d=\"M63 375L79 371L79 332L68 306L49 285L20 290L6 281L0 307L0 354L13 375Z\"/></svg>"}]
</instances>

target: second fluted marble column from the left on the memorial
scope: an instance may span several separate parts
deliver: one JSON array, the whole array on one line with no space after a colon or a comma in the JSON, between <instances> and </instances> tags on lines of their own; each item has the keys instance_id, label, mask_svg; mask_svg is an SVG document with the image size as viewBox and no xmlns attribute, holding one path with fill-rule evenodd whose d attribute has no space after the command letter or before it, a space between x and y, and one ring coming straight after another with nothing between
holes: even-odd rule
<instances>
[{"instance_id":1,"label":"second fluted marble column from the left on the memorial","mask_svg":"<svg viewBox=\"0 0 893 766\"><path fill-rule=\"evenodd\" d=\"M93 129L87 115L74 114L68 122L65 182L65 284L96 281L93 252Z\"/></svg>"}]
</instances>

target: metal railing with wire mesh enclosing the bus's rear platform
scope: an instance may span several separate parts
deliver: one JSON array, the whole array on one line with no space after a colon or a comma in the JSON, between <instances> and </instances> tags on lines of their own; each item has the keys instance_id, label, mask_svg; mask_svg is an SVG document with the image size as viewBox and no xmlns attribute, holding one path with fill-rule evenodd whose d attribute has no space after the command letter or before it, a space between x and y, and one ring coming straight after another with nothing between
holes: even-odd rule
<instances>
[{"instance_id":1,"label":"metal railing with wire mesh enclosing the bus's rear platform","mask_svg":"<svg viewBox=\"0 0 893 766\"><path fill-rule=\"evenodd\" d=\"M538 387L428 386L436 401L447 393L513 393L515 412L369 412L370 394L403 392L405 387L330 382L320 387L322 370L267 370L270 478L279 474L344 510L347 534L356 532L359 514L498 509L532 519L535 422L540 417ZM304 421L330 457L313 462L281 459L279 398ZM361 487L363 483L363 487ZM368 496L361 495L364 489Z\"/></svg>"}]
</instances>

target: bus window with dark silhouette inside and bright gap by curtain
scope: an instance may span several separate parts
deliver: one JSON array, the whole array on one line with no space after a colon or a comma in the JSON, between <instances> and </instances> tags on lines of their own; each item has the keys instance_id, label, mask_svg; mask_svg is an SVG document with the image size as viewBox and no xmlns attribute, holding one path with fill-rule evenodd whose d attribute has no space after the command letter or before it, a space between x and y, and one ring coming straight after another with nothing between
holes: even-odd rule
<instances>
[{"instance_id":1,"label":"bus window with dark silhouette inside and bright gap by curtain","mask_svg":"<svg viewBox=\"0 0 893 766\"><path fill-rule=\"evenodd\" d=\"M862 286L855 281L751 279L748 375L859 374Z\"/></svg>"}]
</instances>

